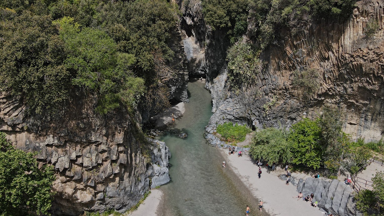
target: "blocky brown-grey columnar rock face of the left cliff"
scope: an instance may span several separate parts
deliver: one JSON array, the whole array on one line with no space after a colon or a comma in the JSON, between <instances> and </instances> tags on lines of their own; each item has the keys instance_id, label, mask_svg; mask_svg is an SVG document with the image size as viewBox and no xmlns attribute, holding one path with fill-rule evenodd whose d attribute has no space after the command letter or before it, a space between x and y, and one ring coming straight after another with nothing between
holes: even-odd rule
<instances>
[{"instance_id":1,"label":"blocky brown-grey columnar rock face of the left cliff","mask_svg":"<svg viewBox=\"0 0 384 216\"><path fill-rule=\"evenodd\" d=\"M149 190L150 179L159 178L152 164L162 169L159 183L169 179L165 143L150 140L154 144L145 156L141 132L127 113L99 116L94 97L73 98L56 116L28 116L20 101L6 93L0 96L0 128L7 138L17 148L39 152L41 165L55 167L53 215L126 211Z\"/></svg>"}]
</instances>

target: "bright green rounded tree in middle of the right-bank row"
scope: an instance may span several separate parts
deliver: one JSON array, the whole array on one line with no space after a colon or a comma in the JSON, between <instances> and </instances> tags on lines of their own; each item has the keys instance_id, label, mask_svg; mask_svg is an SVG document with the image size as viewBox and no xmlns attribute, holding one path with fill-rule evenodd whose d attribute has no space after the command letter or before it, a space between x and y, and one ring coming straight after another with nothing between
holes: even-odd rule
<instances>
[{"instance_id":1,"label":"bright green rounded tree in middle of the right-bank row","mask_svg":"<svg viewBox=\"0 0 384 216\"><path fill-rule=\"evenodd\" d=\"M303 164L317 169L322 161L322 148L319 144L321 130L318 120L308 118L292 125L288 140L291 142L291 163Z\"/></svg>"}]
</instances>

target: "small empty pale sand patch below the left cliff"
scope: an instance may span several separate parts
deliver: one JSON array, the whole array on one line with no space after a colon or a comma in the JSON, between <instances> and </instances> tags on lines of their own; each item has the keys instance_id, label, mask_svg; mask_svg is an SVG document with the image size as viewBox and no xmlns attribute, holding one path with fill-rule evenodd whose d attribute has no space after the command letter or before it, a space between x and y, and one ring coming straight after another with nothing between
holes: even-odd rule
<instances>
[{"instance_id":1,"label":"small empty pale sand patch below the left cliff","mask_svg":"<svg viewBox=\"0 0 384 216\"><path fill-rule=\"evenodd\" d=\"M136 211L128 214L129 216L157 216L156 211L159 208L159 203L163 193L161 190L151 190L151 194L144 200L144 203L139 205Z\"/></svg>"}]
</instances>

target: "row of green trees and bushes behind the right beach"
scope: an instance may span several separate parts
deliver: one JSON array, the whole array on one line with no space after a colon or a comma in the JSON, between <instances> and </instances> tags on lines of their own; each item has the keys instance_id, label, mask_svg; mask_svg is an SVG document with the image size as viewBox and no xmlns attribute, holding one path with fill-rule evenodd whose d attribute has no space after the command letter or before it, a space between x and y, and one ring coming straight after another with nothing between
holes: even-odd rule
<instances>
[{"instance_id":1,"label":"row of green trees and bushes behind the right beach","mask_svg":"<svg viewBox=\"0 0 384 216\"><path fill-rule=\"evenodd\" d=\"M341 131L341 119L338 108L324 107L319 119L302 119L289 131L260 130L252 139L250 155L255 160L292 163L313 169L324 165L330 176L338 175L340 169L354 174L371 158L368 146L373 144L364 143L364 140L352 142L349 134Z\"/></svg>"}]
</instances>

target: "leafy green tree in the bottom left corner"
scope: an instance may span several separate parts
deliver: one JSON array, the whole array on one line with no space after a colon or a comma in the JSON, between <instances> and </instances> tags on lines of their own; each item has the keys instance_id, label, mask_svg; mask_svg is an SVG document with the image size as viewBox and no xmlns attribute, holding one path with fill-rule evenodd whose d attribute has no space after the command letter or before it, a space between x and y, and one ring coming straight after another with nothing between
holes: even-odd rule
<instances>
[{"instance_id":1,"label":"leafy green tree in the bottom left corner","mask_svg":"<svg viewBox=\"0 0 384 216\"><path fill-rule=\"evenodd\" d=\"M34 155L13 148L0 132L0 215L49 214L53 167L39 168Z\"/></svg>"}]
</instances>

